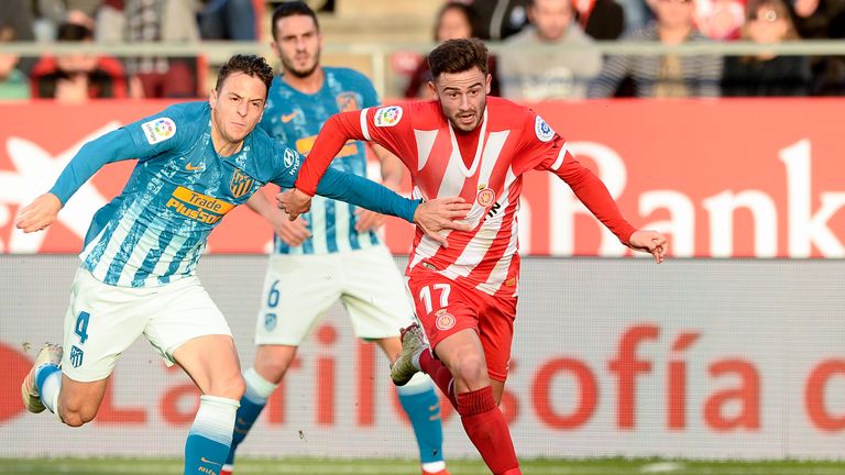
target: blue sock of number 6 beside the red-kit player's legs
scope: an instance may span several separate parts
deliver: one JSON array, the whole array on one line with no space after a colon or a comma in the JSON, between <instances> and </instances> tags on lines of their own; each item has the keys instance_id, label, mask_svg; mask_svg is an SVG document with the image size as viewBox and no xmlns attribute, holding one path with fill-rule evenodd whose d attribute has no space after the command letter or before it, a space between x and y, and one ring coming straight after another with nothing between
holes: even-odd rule
<instances>
[{"instance_id":1,"label":"blue sock of number 6 beside the red-kit player's legs","mask_svg":"<svg viewBox=\"0 0 845 475\"><path fill-rule=\"evenodd\" d=\"M419 376L414 376L415 379ZM399 402L408 415L414 427L419 446L421 463L442 462L443 460L443 428L440 424L440 398L435 394L431 379L424 376L419 382L414 379L396 388Z\"/></svg>"}]
</instances>

